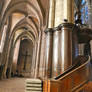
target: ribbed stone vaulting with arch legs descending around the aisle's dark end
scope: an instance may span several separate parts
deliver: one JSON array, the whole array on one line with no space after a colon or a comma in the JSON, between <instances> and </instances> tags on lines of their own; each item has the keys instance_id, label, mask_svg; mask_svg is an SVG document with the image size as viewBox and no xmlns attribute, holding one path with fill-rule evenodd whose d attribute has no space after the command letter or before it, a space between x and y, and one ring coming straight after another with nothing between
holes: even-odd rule
<instances>
[{"instance_id":1,"label":"ribbed stone vaulting with arch legs descending around the aisle's dark end","mask_svg":"<svg viewBox=\"0 0 92 92\"><path fill-rule=\"evenodd\" d=\"M0 6L0 36L2 37L7 21L7 36L4 50L1 53L1 62L5 64L2 78L5 77L8 67L11 67L16 43L21 39L29 39L34 46L34 54L39 60L42 32L47 27L48 0L3 0ZM14 21L15 15L21 15ZM16 21L16 20L15 20ZM20 31L21 30L21 31ZM17 36L16 36L17 34ZM35 57L36 58L36 57ZM36 59L35 59L36 60Z\"/></svg>"}]
</instances>

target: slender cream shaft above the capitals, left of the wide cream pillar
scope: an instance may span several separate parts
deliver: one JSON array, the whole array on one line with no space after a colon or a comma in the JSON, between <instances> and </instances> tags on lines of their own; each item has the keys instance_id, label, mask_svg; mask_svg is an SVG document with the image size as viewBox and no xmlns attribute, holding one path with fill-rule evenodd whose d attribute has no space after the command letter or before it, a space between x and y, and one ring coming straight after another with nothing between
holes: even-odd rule
<instances>
[{"instance_id":1,"label":"slender cream shaft above the capitals, left of the wide cream pillar","mask_svg":"<svg viewBox=\"0 0 92 92\"><path fill-rule=\"evenodd\" d=\"M48 28L54 27L55 20L55 0L50 0L49 6L49 20L48 20Z\"/></svg>"}]
</instances>

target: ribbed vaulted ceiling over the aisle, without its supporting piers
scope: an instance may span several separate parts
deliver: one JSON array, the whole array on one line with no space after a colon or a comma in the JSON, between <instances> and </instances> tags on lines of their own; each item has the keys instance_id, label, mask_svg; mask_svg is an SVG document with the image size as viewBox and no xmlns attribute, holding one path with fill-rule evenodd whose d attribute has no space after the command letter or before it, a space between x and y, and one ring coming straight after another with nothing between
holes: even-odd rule
<instances>
[{"instance_id":1,"label":"ribbed vaulted ceiling over the aisle, without its supporting piers","mask_svg":"<svg viewBox=\"0 0 92 92\"><path fill-rule=\"evenodd\" d=\"M35 40L38 38L39 32L47 27L49 0L2 0L0 10L1 36L4 25L9 20L11 24L7 31L9 31L10 40L13 39L15 32L19 29L23 29L21 34L24 32L28 35L29 32L32 35L32 40Z\"/></svg>"}]
</instances>

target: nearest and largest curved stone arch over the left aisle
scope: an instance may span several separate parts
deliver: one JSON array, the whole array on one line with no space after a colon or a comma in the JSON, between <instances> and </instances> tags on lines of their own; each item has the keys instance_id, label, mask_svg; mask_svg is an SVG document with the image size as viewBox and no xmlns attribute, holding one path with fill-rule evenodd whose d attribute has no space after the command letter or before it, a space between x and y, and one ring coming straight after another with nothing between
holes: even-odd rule
<instances>
[{"instance_id":1,"label":"nearest and largest curved stone arch over the left aisle","mask_svg":"<svg viewBox=\"0 0 92 92\"><path fill-rule=\"evenodd\" d=\"M24 9L21 9L20 8L20 6L22 4L25 4L25 3L27 3L27 4L30 5L30 7L29 7L30 9L31 8L33 9L33 11L32 10L31 11L29 10L30 11L29 12L30 16L35 16L36 15L36 17L39 20L39 23L41 25L42 24L42 21L41 21L41 17L40 16L42 16L42 15L39 14L39 11L36 9L36 7L34 7L33 4L31 4L29 1L25 1L25 0L24 1L22 0L20 2L17 2L14 5L12 5L11 3L8 5L8 7L7 7L7 9L6 9L6 11L5 11L4 15L3 15L3 18L2 18L3 22L1 22L1 25L3 26L3 24L5 23L7 17L10 16L14 12L20 12L20 13L23 13L24 15L29 15L28 12L27 12L27 10L24 10Z\"/></svg>"}]
</instances>

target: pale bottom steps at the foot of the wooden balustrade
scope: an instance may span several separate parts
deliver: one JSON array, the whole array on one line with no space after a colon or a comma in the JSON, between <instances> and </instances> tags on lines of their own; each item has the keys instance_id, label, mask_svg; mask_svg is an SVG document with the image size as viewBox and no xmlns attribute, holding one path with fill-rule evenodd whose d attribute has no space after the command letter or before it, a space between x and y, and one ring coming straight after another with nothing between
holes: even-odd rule
<instances>
[{"instance_id":1,"label":"pale bottom steps at the foot of the wooden balustrade","mask_svg":"<svg viewBox=\"0 0 92 92\"><path fill-rule=\"evenodd\" d=\"M39 79L26 79L25 92L42 92L42 81Z\"/></svg>"}]
</instances>

